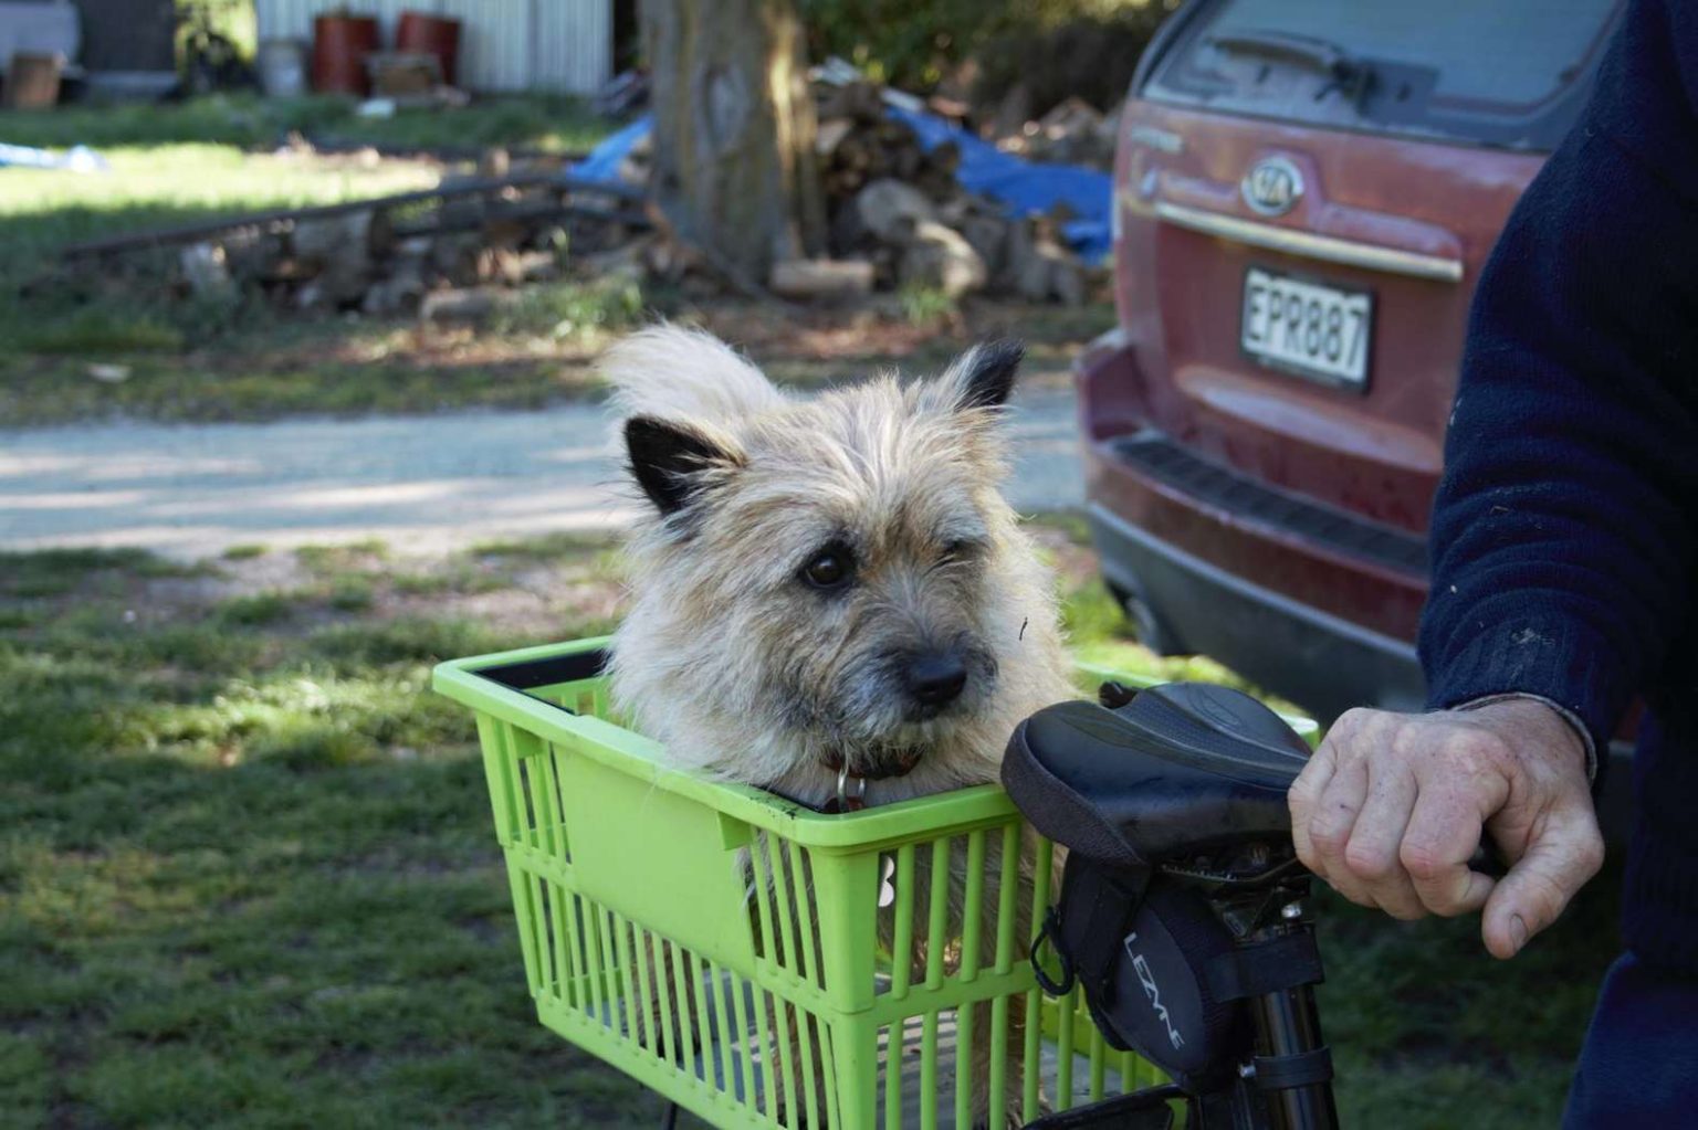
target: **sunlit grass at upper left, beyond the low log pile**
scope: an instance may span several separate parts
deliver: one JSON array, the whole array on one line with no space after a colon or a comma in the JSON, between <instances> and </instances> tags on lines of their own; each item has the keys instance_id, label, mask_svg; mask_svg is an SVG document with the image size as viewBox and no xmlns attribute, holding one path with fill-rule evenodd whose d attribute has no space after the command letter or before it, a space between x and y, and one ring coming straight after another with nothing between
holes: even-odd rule
<instances>
[{"instance_id":1,"label":"sunlit grass at upper left, beyond the low log pile","mask_svg":"<svg viewBox=\"0 0 1698 1130\"><path fill-rule=\"evenodd\" d=\"M14 346L0 382L41 370L31 355L175 356L219 336L265 329L253 310L205 309L141 282L70 275L56 265L68 243L424 188L445 171L435 159L278 149L290 131L397 146L577 151L610 127L582 102L560 97L491 98L380 120L355 117L351 100L333 97L0 112L0 137L12 144L88 144L112 166L105 173L0 175L0 333Z\"/></svg>"}]
</instances>

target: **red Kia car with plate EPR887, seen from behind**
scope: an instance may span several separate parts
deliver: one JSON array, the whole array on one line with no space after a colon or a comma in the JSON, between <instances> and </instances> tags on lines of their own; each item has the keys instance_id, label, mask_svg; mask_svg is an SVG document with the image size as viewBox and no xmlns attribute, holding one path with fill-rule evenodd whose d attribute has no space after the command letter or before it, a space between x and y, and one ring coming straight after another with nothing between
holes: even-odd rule
<instances>
[{"instance_id":1,"label":"red Kia car with plate EPR887, seen from behind","mask_svg":"<svg viewBox=\"0 0 1698 1130\"><path fill-rule=\"evenodd\" d=\"M1321 716L1420 708L1425 534L1474 280L1616 0L1192 0L1116 161L1090 524L1161 652Z\"/></svg>"}]
</instances>

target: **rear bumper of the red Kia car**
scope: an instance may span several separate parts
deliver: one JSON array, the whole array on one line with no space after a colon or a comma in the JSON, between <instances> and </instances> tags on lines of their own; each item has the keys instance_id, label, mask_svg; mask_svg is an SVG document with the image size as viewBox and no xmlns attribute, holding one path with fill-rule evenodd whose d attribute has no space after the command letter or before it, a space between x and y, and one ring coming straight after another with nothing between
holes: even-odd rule
<instances>
[{"instance_id":1,"label":"rear bumper of the red Kia car","mask_svg":"<svg viewBox=\"0 0 1698 1130\"><path fill-rule=\"evenodd\" d=\"M1107 580L1144 599L1185 650L1321 718L1420 709L1420 536L1211 463L1144 424L1121 334L1077 368L1092 534Z\"/></svg>"}]
</instances>

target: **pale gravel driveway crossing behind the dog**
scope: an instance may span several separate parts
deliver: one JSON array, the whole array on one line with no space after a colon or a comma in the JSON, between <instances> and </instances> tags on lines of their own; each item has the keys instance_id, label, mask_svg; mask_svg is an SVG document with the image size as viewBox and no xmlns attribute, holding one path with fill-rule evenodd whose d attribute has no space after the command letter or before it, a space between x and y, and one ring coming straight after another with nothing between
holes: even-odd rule
<instances>
[{"instance_id":1,"label":"pale gravel driveway crossing behind the dog","mask_svg":"<svg viewBox=\"0 0 1698 1130\"><path fill-rule=\"evenodd\" d=\"M1015 397L1009 497L1083 495L1068 387ZM382 538L453 548L494 536L618 528L632 499L594 404L275 424L0 429L0 548L231 545Z\"/></svg>"}]
</instances>

